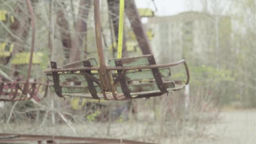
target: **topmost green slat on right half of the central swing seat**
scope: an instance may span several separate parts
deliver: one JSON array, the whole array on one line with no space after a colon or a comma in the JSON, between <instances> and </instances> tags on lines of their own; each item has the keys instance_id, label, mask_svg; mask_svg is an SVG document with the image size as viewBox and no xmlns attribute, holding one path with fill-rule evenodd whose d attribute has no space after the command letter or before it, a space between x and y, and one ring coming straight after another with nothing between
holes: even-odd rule
<instances>
[{"instance_id":1,"label":"topmost green slat on right half of the central swing seat","mask_svg":"<svg viewBox=\"0 0 256 144\"><path fill-rule=\"evenodd\" d=\"M121 58L121 59L110 59L109 65L110 67L116 67L115 61L120 60L123 63L123 67L132 67L132 66L140 66L140 65L148 65L149 62L147 60L147 56L137 56L137 57L128 57L128 58Z\"/></svg>"}]
</instances>

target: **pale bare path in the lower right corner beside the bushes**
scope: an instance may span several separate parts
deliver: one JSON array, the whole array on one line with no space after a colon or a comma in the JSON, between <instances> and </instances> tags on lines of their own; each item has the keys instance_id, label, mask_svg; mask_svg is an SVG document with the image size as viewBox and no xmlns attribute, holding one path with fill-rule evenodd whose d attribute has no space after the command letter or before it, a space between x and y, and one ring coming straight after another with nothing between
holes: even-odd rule
<instances>
[{"instance_id":1,"label":"pale bare path in the lower right corner beside the bushes","mask_svg":"<svg viewBox=\"0 0 256 144\"><path fill-rule=\"evenodd\" d=\"M214 139L199 144L256 144L256 110L222 112L208 133Z\"/></svg>"}]
</instances>

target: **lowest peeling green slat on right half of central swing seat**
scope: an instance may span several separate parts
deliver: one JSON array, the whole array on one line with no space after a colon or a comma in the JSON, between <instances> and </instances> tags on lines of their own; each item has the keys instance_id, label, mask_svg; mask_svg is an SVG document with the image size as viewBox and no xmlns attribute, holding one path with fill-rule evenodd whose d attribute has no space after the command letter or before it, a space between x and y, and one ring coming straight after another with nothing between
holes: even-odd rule
<instances>
[{"instance_id":1,"label":"lowest peeling green slat on right half of central swing seat","mask_svg":"<svg viewBox=\"0 0 256 144\"><path fill-rule=\"evenodd\" d=\"M174 81L165 82L163 83L166 88L175 88ZM134 84L134 85L128 85L128 89L133 95L139 95L141 92L148 92L148 91L159 91L159 88L157 87L156 83L140 83L140 84ZM118 93L123 93L121 86L117 85L116 90ZM160 92L160 91L159 91ZM136 93L136 94L135 94Z\"/></svg>"}]
</instances>

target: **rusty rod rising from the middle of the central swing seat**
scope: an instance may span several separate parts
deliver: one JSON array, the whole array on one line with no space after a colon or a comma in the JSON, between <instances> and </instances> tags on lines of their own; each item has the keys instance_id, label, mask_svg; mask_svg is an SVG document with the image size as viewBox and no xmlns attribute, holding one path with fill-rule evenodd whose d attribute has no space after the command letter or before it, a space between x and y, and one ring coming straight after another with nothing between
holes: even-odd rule
<instances>
[{"instance_id":1,"label":"rusty rod rising from the middle of the central swing seat","mask_svg":"<svg viewBox=\"0 0 256 144\"><path fill-rule=\"evenodd\" d=\"M102 39L101 39L101 18L100 18L100 6L99 0L94 0L94 24L95 24L95 34L96 34L96 44L97 51L99 56L99 67L106 67L105 58L102 47Z\"/></svg>"}]
</instances>

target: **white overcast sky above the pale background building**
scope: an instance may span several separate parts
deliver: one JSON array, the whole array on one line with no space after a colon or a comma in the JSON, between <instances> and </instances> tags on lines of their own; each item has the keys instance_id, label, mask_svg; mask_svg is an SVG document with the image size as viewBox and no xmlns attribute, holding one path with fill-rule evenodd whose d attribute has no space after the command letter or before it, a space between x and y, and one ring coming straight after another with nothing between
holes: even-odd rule
<instances>
[{"instance_id":1,"label":"white overcast sky above the pale background building","mask_svg":"<svg viewBox=\"0 0 256 144\"><path fill-rule=\"evenodd\" d=\"M184 11L200 11L200 0L154 0L157 6L157 16L175 15ZM192 2L193 1L193 2ZM137 8L152 8L155 10L152 0L135 0Z\"/></svg>"}]
</instances>

